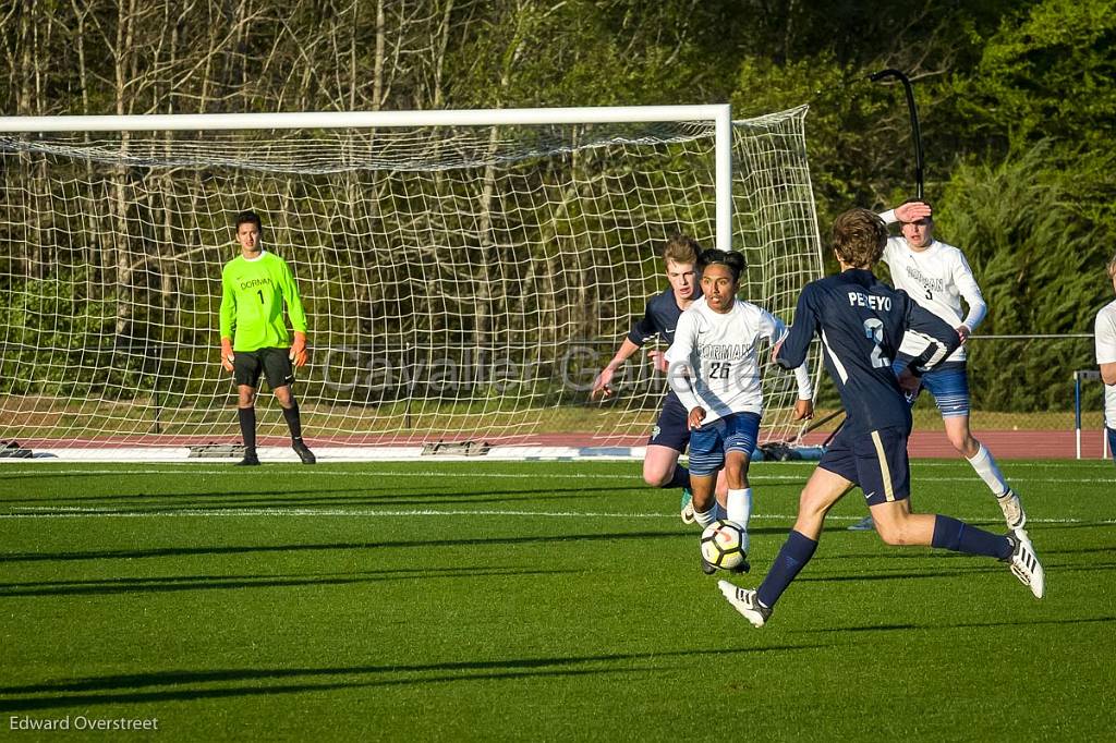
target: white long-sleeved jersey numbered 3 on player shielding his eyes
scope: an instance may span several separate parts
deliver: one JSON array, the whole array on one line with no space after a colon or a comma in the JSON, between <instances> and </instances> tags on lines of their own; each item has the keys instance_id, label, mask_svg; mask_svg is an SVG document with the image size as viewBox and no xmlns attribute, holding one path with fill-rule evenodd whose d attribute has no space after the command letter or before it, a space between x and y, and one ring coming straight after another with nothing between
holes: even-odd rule
<instances>
[{"instance_id":1,"label":"white long-sleeved jersey numbered 3 on player shielding his eyes","mask_svg":"<svg viewBox=\"0 0 1116 743\"><path fill-rule=\"evenodd\" d=\"M896 221L894 212L884 212L879 216L887 223ZM882 260L887 263L896 289L905 291L921 307L949 322L951 328L964 324L970 331L975 331L988 313L988 305L969 261L958 248L934 240L925 250L915 251L907 244L906 238L888 238ZM962 299L969 307L968 313L962 313ZM925 348L926 340L910 332L899 345L899 351L911 356L917 356ZM964 359L965 345L962 344L946 360Z\"/></svg>"}]
</instances>

